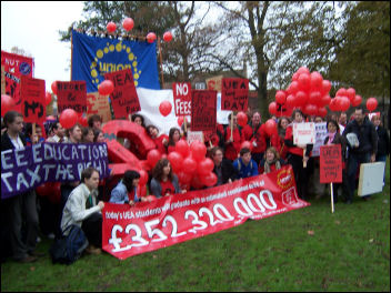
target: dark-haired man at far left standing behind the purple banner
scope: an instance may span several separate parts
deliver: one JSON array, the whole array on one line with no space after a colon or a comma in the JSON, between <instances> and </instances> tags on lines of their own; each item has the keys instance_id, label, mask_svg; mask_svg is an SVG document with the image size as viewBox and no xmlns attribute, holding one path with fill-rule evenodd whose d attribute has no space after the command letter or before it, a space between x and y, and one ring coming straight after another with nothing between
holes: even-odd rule
<instances>
[{"instance_id":1,"label":"dark-haired man at far left standing behind the purple banner","mask_svg":"<svg viewBox=\"0 0 391 293\"><path fill-rule=\"evenodd\" d=\"M1 135L1 152L23 149L26 146L26 138L21 133L23 117L19 112L9 111L4 114L4 124L7 131ZM23 215L26 216L26 241L22 239ZM7 236L9 236L16 261L23 263L37 261L34 249L39 225L34 191L17 194L6 200L2 199L1 230L2 233L3 231L9 233ZM7 240L2 238L2 247L6 244L4 241Z\"/></svg>"}]
</instances>

